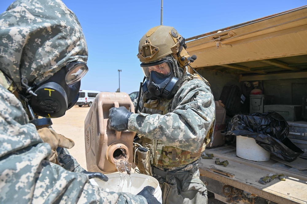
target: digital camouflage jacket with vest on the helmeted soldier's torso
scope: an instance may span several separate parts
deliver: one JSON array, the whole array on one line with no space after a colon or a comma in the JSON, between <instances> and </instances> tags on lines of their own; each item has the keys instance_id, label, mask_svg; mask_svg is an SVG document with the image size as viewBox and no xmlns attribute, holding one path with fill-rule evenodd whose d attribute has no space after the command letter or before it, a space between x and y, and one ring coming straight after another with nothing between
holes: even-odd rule
<instances>
[{"instance_id":1,"label":"digital camouflage jacket with vest on the helmeted soldier's torso","mask_svg":"<svg viewBox=\"0 0 307 204\"><path fill-rule=\"evenodd\" d=\"M174 63L177 64L176 60ZM201 79L190 80L193 76L180 67L175 66L173 71L181 79L181 87L174 98L170 101L158 99L144 102L142 92L140 113L131 114L128 121L129 131L146 137L143 144L144 140L145 144L150 143L147 139L153 140L151 143L155 149L151 153L158 158L153 158L151 164L164 171L182 169L196 162L200 154L194 158L193 154L188 153L188 158L185 158L184 151L196 153L204 147L205 137L215 117L215 102L210 87Z\"/></svg>"}]
</instances>

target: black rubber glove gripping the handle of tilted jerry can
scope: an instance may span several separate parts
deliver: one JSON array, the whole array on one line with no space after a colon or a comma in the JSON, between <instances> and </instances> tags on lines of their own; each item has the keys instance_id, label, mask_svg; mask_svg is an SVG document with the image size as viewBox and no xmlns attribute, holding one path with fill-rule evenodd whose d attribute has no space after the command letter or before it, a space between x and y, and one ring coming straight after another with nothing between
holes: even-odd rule
<instances>
[{"instance_id":1,"label":"black rubber glove gripping the handle of tilted jerry can","mask_svg":"<svg viewBox=\"0 0 307 204\"><path fill-rule=\"evenodd\" d=\"M124 106L119 108L110 108L109 111L109 129L124 131L128 129L128 119L132 112Z\"/></svg>"}]
</instances>

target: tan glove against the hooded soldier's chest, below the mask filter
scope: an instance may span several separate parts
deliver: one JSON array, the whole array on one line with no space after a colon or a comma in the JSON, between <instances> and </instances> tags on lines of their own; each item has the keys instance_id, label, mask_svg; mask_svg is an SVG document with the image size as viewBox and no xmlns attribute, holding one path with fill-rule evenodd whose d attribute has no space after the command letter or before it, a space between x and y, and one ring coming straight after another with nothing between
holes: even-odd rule
<instances>
[{"instance_id":1,"label":"tan glove against the hooded soldier's chest, below the mask filter","mask_svg":"<svg viewBox=\"0 0 307 204\"><path fill-rule=\"evenodd\" d=\"M44 142L50 144L52 155L49 157L49 161L54 164L59 164L57 160L57 153L56 153L57 147L63 147L63 148L70 149L75 145L73 140L67 137L64 137L61 134L56 133L54 130L50 128L43 127L43 128L38 129L37 131L41 139Z\"/></svg>"}]
</instances>

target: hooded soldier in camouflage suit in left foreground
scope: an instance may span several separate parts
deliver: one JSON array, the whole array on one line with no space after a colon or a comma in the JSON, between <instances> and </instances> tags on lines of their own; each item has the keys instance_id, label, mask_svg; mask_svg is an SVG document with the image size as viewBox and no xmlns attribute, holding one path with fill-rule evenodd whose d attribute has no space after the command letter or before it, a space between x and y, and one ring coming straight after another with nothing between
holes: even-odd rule
<instances>
[{"instance_id":1,"label":"hooded soldier in camouflage suit in left foreground","mask_svg":"<svg viewBox=\"0 0 307 204\"><path fill-rule=\"evenodd\" d=\"M57 104L64 106L62 115L74 105L86 61L80 23L60 0L19 0L0 15L0 203L147 203L153 197L152 187L145 187L140 195L106 192L91 185L87 174L52 163L54 147L44 143L36 126L29 123L25 109L32 109L27 104L32 101L34 107L33 100L43 94L39 87L47 82L67 86L59 85L68 102ZM75 70L68 69L71 64L80 66L80 72L71 74ZM56 89L48 91L53 94ZM62 140L57 142L70 146L63 137L56 136ZM70 157L59 153L63 160Z\"/></svg>"}]
</instances>

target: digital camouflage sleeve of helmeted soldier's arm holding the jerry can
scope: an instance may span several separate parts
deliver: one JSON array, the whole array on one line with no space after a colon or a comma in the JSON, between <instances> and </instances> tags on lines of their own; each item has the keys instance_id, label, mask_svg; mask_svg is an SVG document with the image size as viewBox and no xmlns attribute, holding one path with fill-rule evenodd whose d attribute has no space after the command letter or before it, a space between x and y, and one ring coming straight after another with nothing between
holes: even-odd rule
<instances>
[{"instance_id":1,"label":"digital camouflage sleeve of helmeted soldier's arm holding the jerry can","mask_svg":"<svg viewBox=\"0 0 307 204\"><path fill-rule=\"evenodd\" d=\"M185 83L175 94L171 112L132 114L128 130L165 145L197 152L214 120L215 102L210 88L201 80Z\"/></svg>"}]
</instances>

